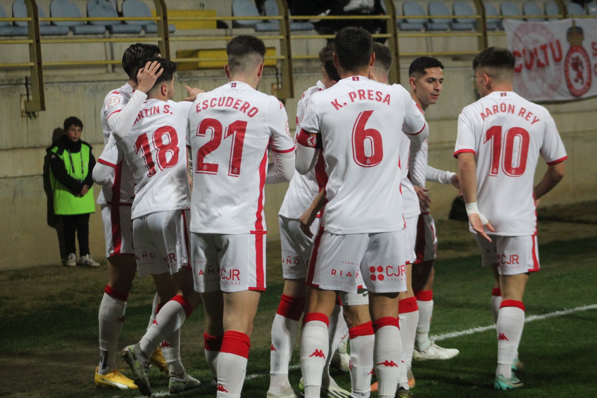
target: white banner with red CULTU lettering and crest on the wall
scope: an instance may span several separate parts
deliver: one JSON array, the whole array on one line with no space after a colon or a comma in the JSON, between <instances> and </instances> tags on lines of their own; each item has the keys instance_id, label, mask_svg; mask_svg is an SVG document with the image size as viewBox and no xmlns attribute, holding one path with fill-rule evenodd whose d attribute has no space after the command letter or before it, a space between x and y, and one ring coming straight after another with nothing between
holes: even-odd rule
<instances>
[{"instance_id":1,"label":"white banner with red CULTU lettering and crest on the wall","mask_svg":"<svg viewBox=\"0 0 597 398\"><path fill-rule=\"evenodd\" d=\"M516 57L514 91L530 101L597 95L597 19L504 20Z\"/></svg>"}]
</instances>

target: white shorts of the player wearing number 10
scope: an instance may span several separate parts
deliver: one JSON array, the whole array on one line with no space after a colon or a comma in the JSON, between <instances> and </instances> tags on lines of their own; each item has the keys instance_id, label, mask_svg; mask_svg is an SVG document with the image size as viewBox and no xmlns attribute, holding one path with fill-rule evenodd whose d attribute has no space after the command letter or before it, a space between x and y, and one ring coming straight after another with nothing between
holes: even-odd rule
<instances>
[{"instance_id":1,"label":"white shorts of the player wearing number 10","mask_svg":"<svg viewBox=\"0 0 597 398\"><path fill-rule=\"evenodd\" d=\"M537 235L501 236L488 235L492 242L478 235L475 240L481 248L484 267L497 263L500 275L516 275L539 270Z\"/></svg>"}]
</instances>

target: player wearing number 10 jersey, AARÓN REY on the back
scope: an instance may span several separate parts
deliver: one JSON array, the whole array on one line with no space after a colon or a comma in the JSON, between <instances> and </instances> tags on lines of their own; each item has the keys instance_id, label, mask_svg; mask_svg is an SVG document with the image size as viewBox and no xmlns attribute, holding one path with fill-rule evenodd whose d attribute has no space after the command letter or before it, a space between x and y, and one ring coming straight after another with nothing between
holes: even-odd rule
<instances>
[{"instance_id":1,"label":"player wearing number 10 jersey, AAR\u00d3N REY on the back","mask_svg":"<svg viewBox=\"0 0 597 398\"><path fill-rule=\"evenodd\" d=\"M460 113L454 149L470 231L481 248L483 266L493 269L501 291L497 390L522 387L512 367L525 322L522 295L529 274L539 270L536 201L564 177L567 159L547 109L512 91L514 63L514 55L500 47L475 57L481 99ZM533 187L539 156L547 171Z\"/></svg>"}]
</instances>

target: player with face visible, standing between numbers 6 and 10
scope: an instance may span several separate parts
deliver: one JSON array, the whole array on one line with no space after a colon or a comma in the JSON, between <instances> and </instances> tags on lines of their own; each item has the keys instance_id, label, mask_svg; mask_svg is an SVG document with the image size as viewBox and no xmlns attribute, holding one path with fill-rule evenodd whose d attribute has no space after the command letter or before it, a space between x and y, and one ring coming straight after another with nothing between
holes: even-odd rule
<instances>
[{"instance_id":1,"label":"player with face visible, standing between numbers 6 and 10","mask_svg":"<svg viewBox=\"0 0 597 398\"><path fill-rule=\"evenodd\" d=\"M437 103L444 82L444 66L432 57L419 57L408 68L411 96L425 112ZM429 127L429 125L427 125ZM410 168L408 177L421 199L421 214L413 220L407 220L407 232L411 226L410 236L416 260L413 261L413 290L417 300L418 324L414 340L414 359L450 359L458 355L456 348L443 348L429 341L429 327L433 313L433 261L437 246L435 223L429 212L431 199L427 195L425 181L452 184L460 189L458 175L443 171L427 164L427 140L412 143L410 149ZM413 203L419 206L419 203ZM410 223L409 223L410 221Z\"/></svg>"}]
</instances>

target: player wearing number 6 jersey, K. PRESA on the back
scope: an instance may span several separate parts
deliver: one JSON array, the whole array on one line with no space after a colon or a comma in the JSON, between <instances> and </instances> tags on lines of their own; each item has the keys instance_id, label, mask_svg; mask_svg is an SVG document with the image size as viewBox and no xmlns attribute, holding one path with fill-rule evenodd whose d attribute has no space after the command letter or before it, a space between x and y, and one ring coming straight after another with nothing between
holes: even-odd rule
<instances>
[{"instance_id":1,"label":"player wearing number 6 jersey, K. PRESA on the back","mask_svg":"<svg viewBox=\"0 0 597 398\"><path fill-rule=\"evenodd\" d=\"M297 140L298 172L312 169L322 150L328 177L324 230L315 239L307 273L301 371L305 396L319 397L336 292L356 293L363 274L375 331L379 396L389 398L395 396L401 363L398 292L406 290L397 177L402 133L389 127L402 126L413 140L423 141L425 121L404 88L367 78L375 61L370 33L346 27L337 33L334 47L342 79L311 96Z\"/></svg>"}]
</instances>

